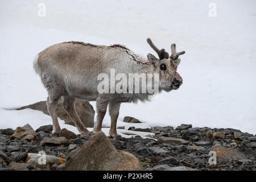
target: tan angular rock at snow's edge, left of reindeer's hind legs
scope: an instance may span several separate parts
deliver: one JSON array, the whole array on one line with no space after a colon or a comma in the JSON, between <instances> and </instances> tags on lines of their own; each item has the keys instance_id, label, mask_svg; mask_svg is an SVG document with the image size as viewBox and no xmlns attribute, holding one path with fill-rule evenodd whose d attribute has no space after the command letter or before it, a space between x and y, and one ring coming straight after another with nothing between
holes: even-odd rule
<instances>
[{"instance_id":1,"label":"tan angular rock at snow's edge, left of reindeer's hind legs","mask_svg":"<svg viewBox=\"0 0 256 182\"><path fill-rule=\"evenodd\" d=\"M29 124L27 124L22 127L17 127L15 133L11 135L10 139L18 138L20 140L31 141L34 140L34 134L35 130L32 129L32 127Z\"/></svg>"}]
</instances>

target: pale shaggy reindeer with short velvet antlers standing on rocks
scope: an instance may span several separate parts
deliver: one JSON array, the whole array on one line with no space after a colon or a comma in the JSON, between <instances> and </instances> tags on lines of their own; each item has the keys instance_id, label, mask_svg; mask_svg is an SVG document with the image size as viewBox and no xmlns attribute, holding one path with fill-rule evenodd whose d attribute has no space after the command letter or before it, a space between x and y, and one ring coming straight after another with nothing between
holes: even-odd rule
<instances>
[{"instance_id":1,"label":"pale shaggy reindeer with short velvet antlers standing on rocks","mask_svg":"<svg viewBox=\"0 0 256 182\"><path fill-rule=\"evenodd\" d=\"M63 107L75 123L81 135L89 134L75 110L75 98L96 101L97 123L93 133L101 131L103 118L109 106L111 126L109 135L117 138L117 119L122 102L137 102L148 100L149 93L98 93L97 76L100 73L109 75L110 69L118 73L158 73L159 92L170 92L180 87L183 80L177 73L180 63L175 44L171 45L171 56L164 49L158 49L147 39L148 44L158 54L159 59L148 53L147 59L125 46L98 46L83 42L64 42L54 44L38 53L34 60L35 72L41 78L47 89L47 108L53 122L53 133L60 132L57 120L56 106L63 97Z\"/></svg>"}]
</instances>

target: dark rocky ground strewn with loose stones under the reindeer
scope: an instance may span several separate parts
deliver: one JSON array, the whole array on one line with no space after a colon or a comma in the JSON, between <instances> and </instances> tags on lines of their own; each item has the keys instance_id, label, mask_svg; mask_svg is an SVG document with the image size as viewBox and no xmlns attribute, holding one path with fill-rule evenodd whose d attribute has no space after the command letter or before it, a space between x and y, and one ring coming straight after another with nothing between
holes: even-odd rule
<instances>
[{"instance_id":1,"label":"dark rocky ground strewn with loose stones under the reindeer","mask_svg":"<svg viewBox=\"0 0 256 182\"><path fill-rule=\"evenodd\" d=\"M137 157L144 170L256 170L256 136L240 130L192 125L181 125L176 129L170 126L130 127L129 130L155 134L154 138L108 137L117 151L130 152ZM71 160L69 154L93 137L81 137L66 129L60 134L51 132L52 125L36 131L30 125L16 130L0 130L0 171L63 170L65 163ZM97 140L94 140L97 147ZM38 164L40 151L46 152L46 164ZM216 165L209 164L210 151L217 154Z\"/></svg>"}]
</instances>

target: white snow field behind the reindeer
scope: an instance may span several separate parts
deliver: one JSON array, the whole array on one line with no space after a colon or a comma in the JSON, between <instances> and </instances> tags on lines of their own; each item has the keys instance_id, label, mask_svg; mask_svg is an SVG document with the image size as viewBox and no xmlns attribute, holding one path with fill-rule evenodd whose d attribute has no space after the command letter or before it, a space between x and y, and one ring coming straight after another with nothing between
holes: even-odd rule
<instances>
[{"instance_id":1,"label":"white snow field behind the reindeer","mask_svg":"<svg viewBox=\"0 0 256 182\"><path fill-rule=\"evenodd\" d=\"M46 17L38 16L40 2L46 4ZM216 17L208 15L212 2ZM51 124L39 111L6 110L46 100L32 69L32 60L44 48L70 40L120 43L146 56L155 54L146 43L150 37L169 52L171 43L186 51L178 69L184 83L146 104L122 104L118 126L191 123L256 134L255 7L254 0L0 0L0 128ZM126 115L144 123L124 123ZM104 126L109 125L106 116Z\"/></svg>"}]
</instances>

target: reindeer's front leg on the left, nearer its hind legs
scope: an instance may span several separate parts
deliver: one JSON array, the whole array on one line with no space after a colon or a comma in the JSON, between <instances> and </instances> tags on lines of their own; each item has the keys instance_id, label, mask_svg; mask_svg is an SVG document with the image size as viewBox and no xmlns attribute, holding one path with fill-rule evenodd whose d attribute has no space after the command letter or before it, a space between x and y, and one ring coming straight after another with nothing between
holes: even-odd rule
<instances>
[{"instance_id":1,"label":"reindeer's front leg on the left, nearer its hind legs","mask_svg":"<svg viewBox=\"0 0 256 182\"><path fill-rule=\"evenodd\" d=\"M106 114L108 101L96 100L97 122L93 128L94 133L101 131L102 121Z\"/></svg>"}]
</instances>

